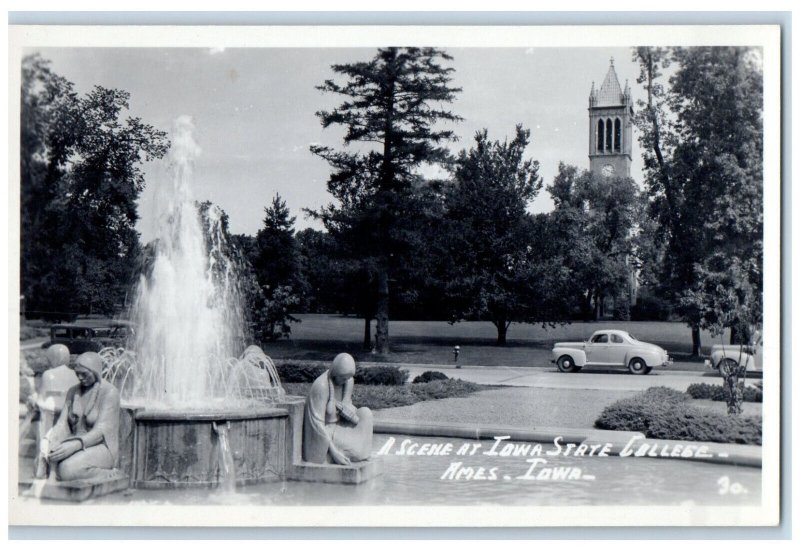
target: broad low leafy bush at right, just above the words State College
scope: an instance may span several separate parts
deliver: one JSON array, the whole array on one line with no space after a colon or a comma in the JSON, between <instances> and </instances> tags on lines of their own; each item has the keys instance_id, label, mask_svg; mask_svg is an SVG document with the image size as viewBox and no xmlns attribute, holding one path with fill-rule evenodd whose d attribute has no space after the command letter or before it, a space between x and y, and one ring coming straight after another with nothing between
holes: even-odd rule
<instances>
[{"instance_id":1,"label":"broad low leafy bush at right, just above the words State College","mask_svg":"<svg viewBox=\"0 0 800 551\"><path fill-rule=\"evenodd\" d=\"M595 426L642 432L648 438L761 445L761 417L729 416L692 407L689 396L649 388L605 408Z\"/></svg>"}]
</instances>

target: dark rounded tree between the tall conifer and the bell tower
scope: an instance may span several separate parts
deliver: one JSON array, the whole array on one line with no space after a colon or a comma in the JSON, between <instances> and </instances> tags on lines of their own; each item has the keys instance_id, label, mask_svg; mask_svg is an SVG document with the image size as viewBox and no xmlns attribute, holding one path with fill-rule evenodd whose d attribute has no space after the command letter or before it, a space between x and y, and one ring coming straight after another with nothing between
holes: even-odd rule
<instances>
[{"instance_id":1,"label":"dark rounded tree between the tall conifer and the bell tower","mask_svg":"<svg viewBox=\"0 0 800 551\"><path fill-rule=\"evenodd\" d=\"M497 344L513 322L546 319L535 234L527 206L542 187L539 163L524 159L530 131L518 125L511 141L490 141L486 130L459 154L445 202L447 294L454 321L488 319ZM535 232L534 230L539 230ZM533 238L533 239L532 239Z\"/></svg>"}]
</instances>

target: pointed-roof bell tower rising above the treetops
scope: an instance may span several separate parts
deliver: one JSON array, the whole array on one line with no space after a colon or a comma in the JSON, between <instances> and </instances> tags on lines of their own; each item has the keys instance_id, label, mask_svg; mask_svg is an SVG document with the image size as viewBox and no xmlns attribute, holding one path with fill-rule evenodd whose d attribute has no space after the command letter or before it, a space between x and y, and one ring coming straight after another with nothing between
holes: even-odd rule
<instances>
[{"instance_id":1,"label":"pointed-roof bell tower rising above the treetops","mask_svg":"<svg viewBox=\"0 0 800 551\"><path fill-rule=\"evenodd\" d=\"M614 58L600 90L589 92L589 170L606 177L631 175L633 102L627 81L619 85Z\"/></svg>"}]
</instances>

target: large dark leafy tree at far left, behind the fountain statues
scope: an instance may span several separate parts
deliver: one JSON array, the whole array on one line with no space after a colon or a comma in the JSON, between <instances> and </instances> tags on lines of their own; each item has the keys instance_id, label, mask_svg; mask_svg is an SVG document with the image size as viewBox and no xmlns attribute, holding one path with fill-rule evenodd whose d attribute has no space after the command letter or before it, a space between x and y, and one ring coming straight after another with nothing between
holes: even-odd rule
<instances>
[{"instance_id":1,"label":"large dark leafy tree at far left, behind the fountain statues","mask_svg":"<svg viewBox=\"0 0 800 551\"><path fill-rule=\"evenodd\" d=\"M21 283L30 310L110 314L139 257L136 201L143 162L166 134L123 118L129 94L95 86L79 96L38 55L22 64Z\"/></svg>"}]
</instances>

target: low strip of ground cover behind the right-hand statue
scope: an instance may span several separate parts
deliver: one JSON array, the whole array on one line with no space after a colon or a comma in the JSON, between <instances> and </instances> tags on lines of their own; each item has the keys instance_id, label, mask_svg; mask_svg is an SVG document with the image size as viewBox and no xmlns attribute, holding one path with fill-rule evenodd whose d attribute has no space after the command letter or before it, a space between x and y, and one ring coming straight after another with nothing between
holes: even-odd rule
<instances>
[{"instance_id":1,"label":"low strip of ground cover behind the right-hand statue","mask_svg":"<svg viewBox=\"0 0 800 551\"><path fill-rule=\"evenodd\" d=\"M287 394L293 396L307 396L311 383L285 383L283 385ZM385 409L399 406L410 406L417 402L428 400L441 400L442 398L461 398L479 390L492 388L462 381L448 379L446 381L431 381L403 386L384 385L356 385L353 389L353 405L368 407L370 409Z\"/></svg>"}]
</instances>

